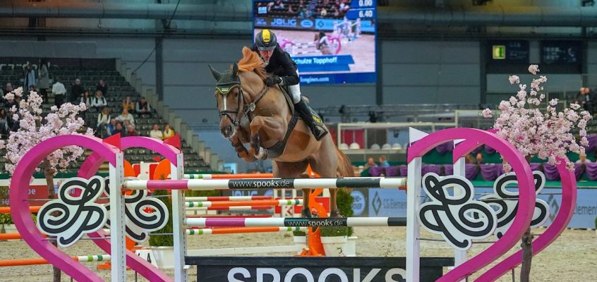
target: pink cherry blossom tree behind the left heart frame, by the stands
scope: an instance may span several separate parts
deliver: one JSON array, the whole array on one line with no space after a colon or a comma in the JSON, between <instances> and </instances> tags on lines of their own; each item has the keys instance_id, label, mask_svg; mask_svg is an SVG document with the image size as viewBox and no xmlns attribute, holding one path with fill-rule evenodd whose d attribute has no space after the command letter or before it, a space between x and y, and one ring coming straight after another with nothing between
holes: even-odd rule
<instances>
[{"instance_id":1,"label":"pink cherry blossom tree behind the left heart frame, by the stands","mask_svg":"<svg viewBox=\"0 0 597 282\"><path fill-rule=\"evenodd\" d=\"M85 123L83 118L78 117L81 111L87 109L83 103L79 105L66 103L60 107L52 106L51 112L44 117L42 116L42 97L33 91L27 97L23 96L22 87L4 96L8 102L18 102L18 107L13 105L10 109L14 123L19 125L18 130L11 131L6 142L0 141L0 148L6 147L5 157L8 162L5 166L11 174L14 172L16 164L32 147L54 136L79 134L78 130L83 128ZM93 136L93 130L88 128L85 135ZM55 197L54 176L56 173L64 171L83 152L80 147L68 146L52 152L44 159L43 170L50 198ZM37 171L40 171L40 168L37 168ZM54 268L54 281L60 281L60 271L56 268Z\"/></svg>"}]
</instances>

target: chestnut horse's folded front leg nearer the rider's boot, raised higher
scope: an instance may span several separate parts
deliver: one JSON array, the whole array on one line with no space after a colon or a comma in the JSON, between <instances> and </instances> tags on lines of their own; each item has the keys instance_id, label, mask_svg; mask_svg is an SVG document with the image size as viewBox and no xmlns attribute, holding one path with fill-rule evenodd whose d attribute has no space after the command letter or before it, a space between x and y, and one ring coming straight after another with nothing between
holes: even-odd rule
<instances>
[{"instance_id":1,"label":"chestnut horse's folded front leg nearer the rider's boot, raised higher","mask_svg":"<svg viewBox=\"0 0 597 282\"><path fill-rule=\"evenodd\" d=\"M251 121L251 146L248 151L258 159L267 159L267 150L260 146L260 130L269 140L282 141L287 125L281 116L255 116Z\"/></svg>"}]
</instances>

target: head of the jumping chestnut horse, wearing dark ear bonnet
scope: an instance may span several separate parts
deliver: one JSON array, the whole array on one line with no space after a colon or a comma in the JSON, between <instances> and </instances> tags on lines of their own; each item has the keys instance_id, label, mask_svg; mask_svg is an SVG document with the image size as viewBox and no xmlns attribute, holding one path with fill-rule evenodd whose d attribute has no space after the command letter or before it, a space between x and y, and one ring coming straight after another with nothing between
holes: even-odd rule
<instances>
[{"instance_id":1,"label":"head of the jumping chestnut horse, wearing dark ear bonnet","mask_svg":"<svg viewBox=\"0 0 597 282\"><path fill-rule=\"evenodd\" d=\"M219 130L224 137L234 135L241 123L244 101L239 66L234 63L232 69L220 73L210 66L216 80L215 97L219 113Z\"/></svg>"}]
</instances>

